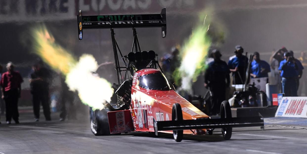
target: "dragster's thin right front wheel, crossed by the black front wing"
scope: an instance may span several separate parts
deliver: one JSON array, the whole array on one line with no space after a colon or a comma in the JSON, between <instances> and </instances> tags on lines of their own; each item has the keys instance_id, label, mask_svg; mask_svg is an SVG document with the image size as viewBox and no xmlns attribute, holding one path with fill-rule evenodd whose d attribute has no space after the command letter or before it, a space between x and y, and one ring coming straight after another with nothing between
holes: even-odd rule
<instances>
[{"instance_id":1,"label":"dragster's thin right front wheel, crossed by the black front wing","mask_svg":"<svg viewBox=\"0 0 307 154\"><path fill-rule=\"evenodd\" d=\"M223 101L221 104L221 119L231 118L231 109L228 101ZM225 140L229 140L232 134L232 127L224 127L222 128L222 135Z\"/></svg>"}]
</instances>

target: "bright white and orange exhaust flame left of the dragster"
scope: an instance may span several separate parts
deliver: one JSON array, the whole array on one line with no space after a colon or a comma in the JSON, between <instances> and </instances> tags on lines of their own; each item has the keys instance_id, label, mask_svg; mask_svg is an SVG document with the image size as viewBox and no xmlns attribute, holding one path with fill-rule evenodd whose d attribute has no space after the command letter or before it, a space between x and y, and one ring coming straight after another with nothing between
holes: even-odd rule
<instances>
[{"instance_id":1,"label":"bright white and orange exhaust flame left of the dragster","mask_svg":"<svg viewBox=\"0 0 307 154\"><path fill-rule=\"evenodd\" d=\"M77 61L67 50L55 42L45 26L33 30L35 53L52 69L66 76L65 82L72 91L78 91L81 101L93 110L104 108L114 93L111 83L94 75L98 68L92 55L84 54Z\"/></svg>"}]
</instances>

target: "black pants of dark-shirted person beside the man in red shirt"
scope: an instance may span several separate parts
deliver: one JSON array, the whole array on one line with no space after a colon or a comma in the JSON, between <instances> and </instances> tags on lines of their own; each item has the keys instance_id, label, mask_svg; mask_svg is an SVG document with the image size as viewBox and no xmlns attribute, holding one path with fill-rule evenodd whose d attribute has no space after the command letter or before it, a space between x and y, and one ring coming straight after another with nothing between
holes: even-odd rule
<instances>
[{"instance_id":1,"label":"black pants of dark-shirted person beside the man in red shirt","mask_svg":"<svg viewBox=\"0 0 307 154\"><path fill-rule=\"evenodd\" d=\"M49 106L49 91L48 90L36 90L32 92L33 96L33 112L35 118L39 119L40 103L43 106L44 115L46 120L51 120L50 106Z\"/></svg>"}]
</instances>

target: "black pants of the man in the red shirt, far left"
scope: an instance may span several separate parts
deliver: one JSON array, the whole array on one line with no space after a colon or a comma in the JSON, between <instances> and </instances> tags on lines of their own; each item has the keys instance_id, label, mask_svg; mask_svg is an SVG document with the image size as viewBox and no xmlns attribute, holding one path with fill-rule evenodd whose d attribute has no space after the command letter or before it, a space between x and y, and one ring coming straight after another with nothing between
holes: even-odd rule
<instances>
[{"instance_id":1,"label":"black pants of the man in the red shirt, far left","mask_svg":"<svg viewBox=\"0 0 307 154\"><path fill-rule=\"evenodd\" d=\"M18 121L18 98L19 93L17 89L12 89L4 92L4 101L6 107L6 121Z\"/></svg>"}]
</instances>

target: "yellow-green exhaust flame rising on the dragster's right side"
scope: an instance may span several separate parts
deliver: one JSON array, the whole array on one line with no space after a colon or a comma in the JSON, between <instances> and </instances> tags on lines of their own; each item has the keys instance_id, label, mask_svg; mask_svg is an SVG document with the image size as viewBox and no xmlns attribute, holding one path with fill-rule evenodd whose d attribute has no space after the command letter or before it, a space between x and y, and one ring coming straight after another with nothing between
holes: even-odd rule
<instances>
[{"instance_id":1,"label":"yellow-green exhaust flame rising on the dragster's right side","mask_svg":"<svg viewBox=\"0 0 307 154\"><path fill-rule=\"evenodd\" d=\"M206 17L207 15L205 19ZM174 74L177 81L181 79L181 88L185 91L191 91L191 81L195 82L200 73L204 71L205 59L211 45L211 40L207 35L209 24L206 25L205 20L204 24L202 21L199 23L181 48L181 65Z\"/></svg>"}]
</instances>

